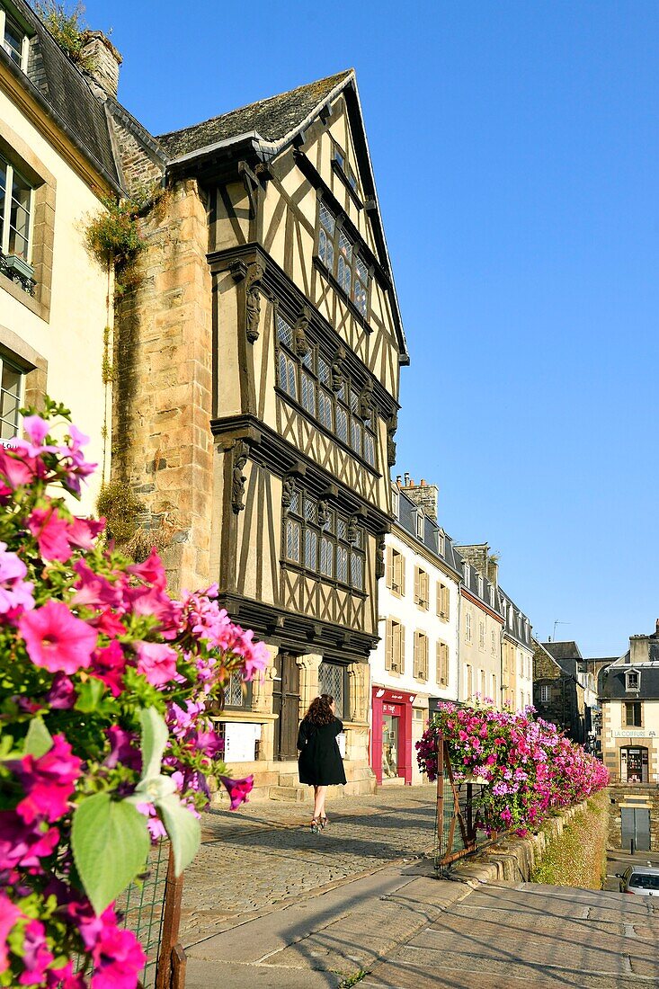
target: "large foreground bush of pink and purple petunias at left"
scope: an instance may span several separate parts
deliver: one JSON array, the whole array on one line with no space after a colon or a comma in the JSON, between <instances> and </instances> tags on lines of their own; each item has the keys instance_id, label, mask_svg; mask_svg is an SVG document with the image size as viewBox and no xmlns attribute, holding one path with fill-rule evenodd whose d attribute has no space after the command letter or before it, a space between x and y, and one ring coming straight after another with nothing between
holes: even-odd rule
<instances>
[{"instance_id":1,"label":"large foreground bush of pink and purple petunias at left","mask_svg":"<svg viewBox=\"0 0 659 989\"><path fill-rule=\"evenodd\" d=\"M114 901L149 839L177 873L192 859L209 772L247 798L208 711L267 651L216 585L172 599L155 552L132 563L71 512L94 465L66 409L24 426L0 447L0 985L133 989L144 953Z\"/></svg>"}]
</instances>

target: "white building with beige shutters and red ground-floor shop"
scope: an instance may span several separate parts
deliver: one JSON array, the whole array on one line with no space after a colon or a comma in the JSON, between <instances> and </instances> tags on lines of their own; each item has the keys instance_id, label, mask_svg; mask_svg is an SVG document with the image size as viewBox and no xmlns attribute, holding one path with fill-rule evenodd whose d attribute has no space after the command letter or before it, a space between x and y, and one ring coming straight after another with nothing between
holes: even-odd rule
<instances>
[{"instance_id":1,"label":"white building with beige shutters and red ground-floor shop","mask_svg":"<svg viewBox=\"0 0 659 989\"><path fill-rule=\"evenodd\" d=\"M430 698L458 691L460 571L452 541L436 521L436 488L392 489L379 588L380 641L371 655L370 763L379 783L421 782L416 758Z\"/></svg>"}]
</instances>

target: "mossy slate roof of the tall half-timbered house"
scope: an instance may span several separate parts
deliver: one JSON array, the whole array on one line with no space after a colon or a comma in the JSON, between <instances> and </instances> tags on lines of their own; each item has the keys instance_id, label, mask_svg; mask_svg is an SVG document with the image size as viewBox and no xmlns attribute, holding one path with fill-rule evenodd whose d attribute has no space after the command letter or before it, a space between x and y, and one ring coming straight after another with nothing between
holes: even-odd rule
<instances>
[{"instance_id":1,"label":"mossy slate roof of the tall half-timbered house","mask_svg":"<svg viewBox=\"0 0 659 989\"><path fill-rule=\"evenodd\" d=\"M326 79L258 100L201 124L158 135L157 140L171 158L191 154L250 132L275 143L299 128L351 73L352 69L337 72Z\"/></svg>"}]
</instances>

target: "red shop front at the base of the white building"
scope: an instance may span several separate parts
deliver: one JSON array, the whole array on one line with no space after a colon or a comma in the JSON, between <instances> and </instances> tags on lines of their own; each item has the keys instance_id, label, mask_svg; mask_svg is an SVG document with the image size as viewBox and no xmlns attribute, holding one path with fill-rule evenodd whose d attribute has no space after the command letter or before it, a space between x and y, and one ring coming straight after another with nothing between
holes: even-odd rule
<instances>
[{"instance_id":1,"label":"red shop front at the base of the white building","mask_svg":"<svg viewBox=\"0 0 659 989\"><path fill-rule=\"evenodd\" d=\"M378 783L403 777L412 784L412 705L416 694L373 687L371 768Z\"/></svg>"}]
</instances>

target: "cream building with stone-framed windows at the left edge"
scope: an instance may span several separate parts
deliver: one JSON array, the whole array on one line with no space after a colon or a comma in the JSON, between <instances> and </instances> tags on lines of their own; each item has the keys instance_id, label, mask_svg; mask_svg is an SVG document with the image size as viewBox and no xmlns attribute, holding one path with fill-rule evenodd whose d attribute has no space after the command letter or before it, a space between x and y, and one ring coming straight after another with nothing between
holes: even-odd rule
<instances>
[{"instance_id":1,"label":"cream building with stone-framed windows at the left edge","mask_svg":"<svg viewBox=\"0 0 659 989\"><path fill-rule=\"evenodd\" d=\"M22 405L48 394L68 405L90 436L89 459L107 471L112 278L88 253L84 226L121 179L95 86L28 4L0 0L0 439L17 434ZM100 483L101 471L76 510L95 511Z\"/></svg>"}]
</instances>

